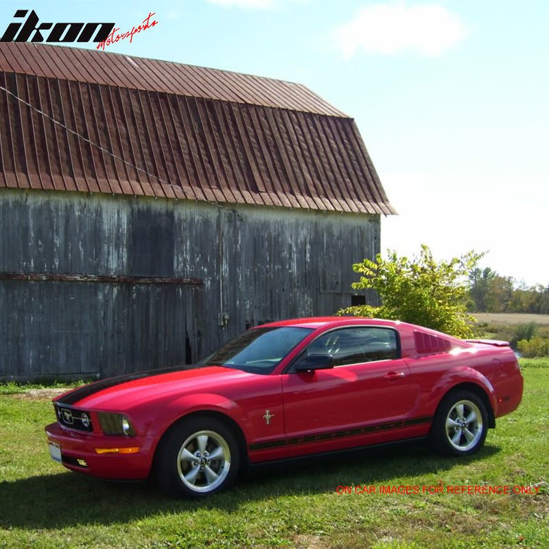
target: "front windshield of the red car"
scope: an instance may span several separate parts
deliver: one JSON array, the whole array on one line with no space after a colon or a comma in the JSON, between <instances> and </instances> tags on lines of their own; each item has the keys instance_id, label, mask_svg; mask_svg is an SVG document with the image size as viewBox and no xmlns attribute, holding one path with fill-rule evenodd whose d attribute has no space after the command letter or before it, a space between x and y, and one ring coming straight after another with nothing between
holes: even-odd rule
<instances>
[{"instance_id":1,"label":"front windshield of the red car","mask_svg":"<svg viewBox=\"0 0 549 549\"><path fill-rule=\"evenodd\" d=\"M311 332L309 328L288 326L250 329L200 364L268 374Z\"/></svg>"}]
</instances>

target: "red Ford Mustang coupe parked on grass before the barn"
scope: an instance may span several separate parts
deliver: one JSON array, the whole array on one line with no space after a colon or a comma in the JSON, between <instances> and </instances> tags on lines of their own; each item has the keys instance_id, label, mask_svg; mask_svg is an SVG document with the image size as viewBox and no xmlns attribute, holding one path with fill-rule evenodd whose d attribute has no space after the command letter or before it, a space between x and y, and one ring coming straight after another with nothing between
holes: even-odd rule
<instances>
[{"instance_id":1,"label":"red Ford Mustang coupe parked on grass before the barn","mask_svg":"<svg viewBox=\"0 0 549 549\"><path fill-rule=\"evenodd\" d=\"M54 399L51 457L101 478L194 498L248 463L429 437L476 452L522 398L513 351L391 320L326 317L252 328L196 366L139 372Z\"/></svg>"}]
</instances>

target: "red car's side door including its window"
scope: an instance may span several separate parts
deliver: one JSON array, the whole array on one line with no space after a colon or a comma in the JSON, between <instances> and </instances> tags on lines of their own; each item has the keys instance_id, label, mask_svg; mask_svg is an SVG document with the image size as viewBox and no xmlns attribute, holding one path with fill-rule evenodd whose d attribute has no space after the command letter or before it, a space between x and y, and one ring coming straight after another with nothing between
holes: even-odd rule
<instances>
[{"instance_id":1,"label":"red car's side door including its window","mask_svg":"<svg viewBox=\"0 0 549 549\"><path fill-rule=\"evenodd\" d=\"M331 355L334 368L293 371L315 354ZM418 397L397 330L364 325L318 336L282 375L282 390L290 456L397 439Z\"/></svg>"}]
</instances>

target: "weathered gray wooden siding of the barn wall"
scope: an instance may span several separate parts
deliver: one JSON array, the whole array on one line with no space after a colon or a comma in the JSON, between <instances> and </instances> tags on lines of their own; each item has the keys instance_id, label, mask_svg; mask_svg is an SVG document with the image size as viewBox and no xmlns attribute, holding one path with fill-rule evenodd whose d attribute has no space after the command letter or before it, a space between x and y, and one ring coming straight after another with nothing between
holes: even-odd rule
<instances>
[{"instance_id":1,"label":"weathered gray wooden siding of the barn wall","mask_svg":"<svg viewBox=\"0 0 549 549\"><path fill-rule=\"evenodd\" d=\"M0 280L0 379L196 361L246 325L350 305L351 265L377 252L379 215L3 189L0 272L203 285Z\"/></svg>"}]
</instances>

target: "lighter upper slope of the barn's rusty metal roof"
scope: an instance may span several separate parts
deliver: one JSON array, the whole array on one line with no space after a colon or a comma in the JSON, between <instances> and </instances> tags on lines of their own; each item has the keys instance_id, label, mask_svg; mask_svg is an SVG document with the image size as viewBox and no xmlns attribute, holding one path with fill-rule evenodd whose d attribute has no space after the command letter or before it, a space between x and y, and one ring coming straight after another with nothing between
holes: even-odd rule
<instances>
[{"instance_id":1,"label":"lighter upper slope of the barn's rusty metal roof","mask_svg":"<svg viewBox=\"0 0 549 549\"><path fill-rule=\"evenodd\" d=\"M2 43L0 71L346 116L306 86L294 82L93 49Z\"/></svg>"}]
</instances>

